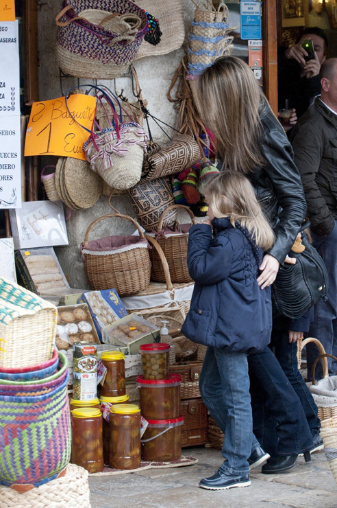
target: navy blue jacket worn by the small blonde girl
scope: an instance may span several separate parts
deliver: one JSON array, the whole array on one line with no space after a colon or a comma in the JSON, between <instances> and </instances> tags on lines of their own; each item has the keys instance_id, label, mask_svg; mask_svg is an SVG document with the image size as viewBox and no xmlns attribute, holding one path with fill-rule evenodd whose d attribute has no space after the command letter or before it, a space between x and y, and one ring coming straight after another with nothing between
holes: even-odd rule
<instances>
[{"instance_id":1,"label":"navy blue jacket worn by the small blonde girl","mask_svg":"<svg viewBox=\"0 0 337 508\"><path fill-rule=\"evenodd\" d=\"M262 249L227 218L192 226L188 271L195 281L183 334L195 343L231 351L262 351L271 339L271 288L258 286ZM254 253L255 250L255 253Z\"/></svg>"}]
</instances>

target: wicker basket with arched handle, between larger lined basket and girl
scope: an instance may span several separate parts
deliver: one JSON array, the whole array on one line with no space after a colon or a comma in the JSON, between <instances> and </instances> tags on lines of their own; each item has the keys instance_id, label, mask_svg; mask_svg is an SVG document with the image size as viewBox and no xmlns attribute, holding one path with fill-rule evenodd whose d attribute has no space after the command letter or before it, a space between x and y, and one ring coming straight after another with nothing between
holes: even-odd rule
<instances>
[{"instance_id":1,"label":"wicker basket with arched handle, between larger lined basket and girl","mask_svg":"<svg viewBox=\"0 0 337 508\"><path fill-rule=\"evenodd\" d=\"M194 214L188 207L184 207L184 205L173 205L166 208L162 214L158 223L157 232L149 233L149 235L153 236L162 247L162 251L168 262L168 268L170 269L171 281L178 283L190 282L192 279L188 273L187 266L188 230L190 229L190 224L179 225L175 222L175 225L172 227L166 227L164 229L162 227L166 213L173 209L186 210L190 215L192 224L197 223ZM151 280L164 282L164 268L162 267L162 262L155 249L151 249L150 259Z\"/></svg>"}]
</instances>

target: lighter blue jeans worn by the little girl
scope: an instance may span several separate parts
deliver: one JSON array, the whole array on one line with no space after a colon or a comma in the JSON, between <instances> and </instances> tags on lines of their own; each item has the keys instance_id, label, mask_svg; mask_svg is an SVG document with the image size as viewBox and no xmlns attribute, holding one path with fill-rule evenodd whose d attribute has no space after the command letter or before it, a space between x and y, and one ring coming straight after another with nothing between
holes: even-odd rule
<instances>
[{"instance_id":1,"label":"lighter blue jeans worn by the little girl","mask_svg":"<svg viewBox=\"0 0 337 508\"><path fill-rule=\"evenodd\" d=\"M227 474L247 474L248 457L259 446L253 437L251 397L246 353L208 347L199 388L212 417L223 434L221 465Z\"/></svg>"}]
</instances>

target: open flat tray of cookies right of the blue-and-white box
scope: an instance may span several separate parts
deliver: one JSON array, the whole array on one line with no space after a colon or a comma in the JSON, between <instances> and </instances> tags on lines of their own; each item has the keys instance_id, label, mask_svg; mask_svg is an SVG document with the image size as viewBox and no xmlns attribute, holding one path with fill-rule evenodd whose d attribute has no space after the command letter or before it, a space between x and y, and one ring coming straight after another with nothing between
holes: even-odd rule
<instances>
[{"instance_id":1,"label":"open flat tray of cookies right of the blue-and-white box","mask_svg":"<svg viewBox=\"0 0 337 508\"><path fill-rule=\"evenodd\" d=\"M160 329L136 314L105 326L103 343L127 347L128 354L138 354L139 346L159 342Z\"/></svg>"}]
</instances>

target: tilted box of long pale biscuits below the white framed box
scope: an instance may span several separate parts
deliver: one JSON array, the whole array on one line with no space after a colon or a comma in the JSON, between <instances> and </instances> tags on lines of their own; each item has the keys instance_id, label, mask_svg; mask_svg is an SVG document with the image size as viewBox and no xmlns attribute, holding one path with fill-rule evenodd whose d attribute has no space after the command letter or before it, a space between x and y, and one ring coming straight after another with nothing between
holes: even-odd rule
<instances>
[{"instance_id":1,"label":"tilted box of long pale biscuits below the white framed box","mask_svg":"<svg viewBox=\"0 0 337 508\"><path fill-rule=\"evenodd\" d=\"M37 295L64 295L69 291L53 247L17 251L15 264L19 284L29 291Z\"/></svg>"}]
</instances>

